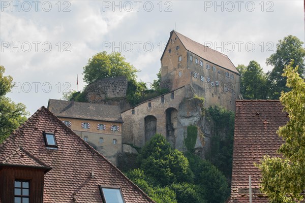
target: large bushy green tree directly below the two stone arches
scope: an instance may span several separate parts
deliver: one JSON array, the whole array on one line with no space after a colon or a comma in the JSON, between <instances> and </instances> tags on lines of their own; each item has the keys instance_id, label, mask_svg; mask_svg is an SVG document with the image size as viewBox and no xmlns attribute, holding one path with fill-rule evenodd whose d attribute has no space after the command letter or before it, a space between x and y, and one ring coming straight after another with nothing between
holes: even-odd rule
<instances>
[{"instance_id":1,"label":"large bushy green tree directly below the two stone arches","mask_svg":"<svg viewBox=\"0 0 305 203\"><path fill-rule=\"evenodd\" d=\"M141 152L141 168L150 176L158 178L162 186L177 181L192 181L188 159L161 134L156 134L145 144Z\"/></svg>"}]
</instances>

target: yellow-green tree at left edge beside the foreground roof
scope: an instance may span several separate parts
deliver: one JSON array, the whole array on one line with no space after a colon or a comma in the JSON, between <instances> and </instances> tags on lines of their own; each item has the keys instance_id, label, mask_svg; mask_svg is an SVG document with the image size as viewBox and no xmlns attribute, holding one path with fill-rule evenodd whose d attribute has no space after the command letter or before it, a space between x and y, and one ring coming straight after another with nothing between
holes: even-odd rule
<instances>
[{"instance_id":1,"label":"yellow-green tree at left edge beside the foreground roof","mask_svg":"<svg viewBox=\"0 0 305 203\"><path fill-rule=\"evenodd\" d=\"M0 143L2 143L29 114L21 103L15 104L5 95L14 86L11 76L4 76L5 68L0 65Z\"/></svg>"}]
</instances>

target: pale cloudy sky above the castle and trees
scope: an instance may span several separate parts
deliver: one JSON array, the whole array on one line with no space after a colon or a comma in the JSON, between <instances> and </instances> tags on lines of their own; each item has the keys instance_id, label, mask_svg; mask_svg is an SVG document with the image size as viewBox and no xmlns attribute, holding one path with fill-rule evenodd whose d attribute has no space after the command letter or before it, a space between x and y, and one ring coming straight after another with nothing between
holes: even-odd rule
<instances>
[{"instance_id":1,"label":"pale cloudy sky above the castle and trees","mask_svg":"<svg viewBox=\"0 0 305 203\"><path fill-rule=\"evenodd\" d=\"M303 1L0 1L0 64L8 94L33 114L49 98L78 90L83 66L120 51L150 83L172 29L220 51L235 66L265 61L285 36L304 41Z\"/></svg>"}]
</instances>

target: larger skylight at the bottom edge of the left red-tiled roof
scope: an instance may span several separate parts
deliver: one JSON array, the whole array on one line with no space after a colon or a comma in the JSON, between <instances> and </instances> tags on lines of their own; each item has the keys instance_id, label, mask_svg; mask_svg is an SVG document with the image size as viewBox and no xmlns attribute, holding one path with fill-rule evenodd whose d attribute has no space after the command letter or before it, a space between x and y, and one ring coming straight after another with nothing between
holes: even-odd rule
<instances>
[{"instance_id":1,"label":"larger skylight at the bottom edge of the left red-tiled roof","mask_svg":"<svg viewBox=\"0 0 305 203\"><path fill-rule=\"evenodd\" d=\"M100 191L105 203L125 203L120 188L106 188L100 186Z\"/></svg>"}]
</instances>

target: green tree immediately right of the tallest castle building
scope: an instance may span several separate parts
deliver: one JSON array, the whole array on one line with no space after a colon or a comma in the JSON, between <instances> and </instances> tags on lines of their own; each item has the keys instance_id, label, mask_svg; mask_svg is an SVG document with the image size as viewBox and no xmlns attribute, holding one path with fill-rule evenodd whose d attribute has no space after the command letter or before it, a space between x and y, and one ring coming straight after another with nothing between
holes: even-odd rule
<instances>
[{"instance_id":1,"label":"green tree immediately right of the tallest castle building","mask_svg":"<svg viewBox=\"0 0 305 203\"><path fill-rule=\"evenodd\" d=\"M267 77L260 64L255 60L248 66L238 65L240 76L240 93L244 99L266 99Z\"/></svg>"}]
</instances>

